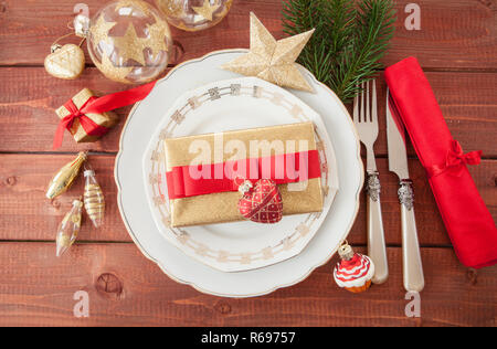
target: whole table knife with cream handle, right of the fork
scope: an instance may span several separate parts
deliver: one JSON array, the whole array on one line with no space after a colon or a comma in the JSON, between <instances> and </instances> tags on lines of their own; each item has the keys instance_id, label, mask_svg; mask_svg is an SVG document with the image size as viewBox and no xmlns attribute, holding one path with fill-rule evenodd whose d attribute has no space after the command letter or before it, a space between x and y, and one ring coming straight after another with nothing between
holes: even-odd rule
<instances>
[{"instance_id":1,"label":"whole table knife with cream handle, right of the fork","mask_svg":"<svg viewBox=\"0 0 497 349\"><path fill-rule=\"evenodd\" d=\"M399 201L402 218L402 265L404 288L408 292L422 292L424 288L423 264L417 240L414 216L414 192L409 178L405 131L395 105L387 89L387 138L389 147L389 169L399 176Z\"/></svg>"}]
</instances>

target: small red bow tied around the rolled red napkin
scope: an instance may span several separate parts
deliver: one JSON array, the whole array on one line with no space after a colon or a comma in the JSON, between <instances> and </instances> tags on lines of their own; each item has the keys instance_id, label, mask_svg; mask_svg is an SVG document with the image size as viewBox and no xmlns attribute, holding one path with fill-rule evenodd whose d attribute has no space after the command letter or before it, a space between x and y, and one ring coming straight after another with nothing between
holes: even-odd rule
<instances>
[{"instance_id":1,"label":"small red bow tied around the rolled red napkin","mask_svg":"<svg viewBox=\"0 0 497 349\"><path fill-rule=\"evenodd\" d=\"M451 142L451 149L447 151L445 163L443 166L434 165L426 170L429 178L448 170L452 170L455 176L459 176L464 165L479 165L479 162L482 162L482 150L464 154L463 147L454 139Z\"/></svg>"}]
</instances>

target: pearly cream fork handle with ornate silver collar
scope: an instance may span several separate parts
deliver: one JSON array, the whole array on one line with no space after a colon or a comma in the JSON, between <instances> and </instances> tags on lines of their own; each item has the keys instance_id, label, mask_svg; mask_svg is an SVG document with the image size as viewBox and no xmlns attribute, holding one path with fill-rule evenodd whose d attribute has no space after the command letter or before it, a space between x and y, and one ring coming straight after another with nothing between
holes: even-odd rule
<instances>
[{"instance_id":1,"label":"pearly cream fork handle with ornate silver collar","mask_svg":"<svg viewBox=\"0 0 497 349\"><path fill-rule=\"evenodd\" d=\"M389 263L384 242L383 218L380 201L381 184L377 172L368 173L368 255L374 263L374 284L383 284L389 278Z\"/></svg>"}]
</instances>

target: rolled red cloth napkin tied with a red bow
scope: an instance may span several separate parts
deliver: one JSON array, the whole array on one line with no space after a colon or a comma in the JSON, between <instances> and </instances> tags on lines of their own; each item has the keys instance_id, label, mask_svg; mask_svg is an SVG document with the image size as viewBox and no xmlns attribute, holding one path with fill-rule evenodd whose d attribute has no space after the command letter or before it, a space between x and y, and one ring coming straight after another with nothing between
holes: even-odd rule
<instances>
[{"instance_id":1,"label":"rolled red cloth napkin tied with a red bow","mask_svg":"<svg viewBox=\"0 0 497 349\"><path fill-rule=\"evenodd\" d=\"M417 60L385 70L396 112L426 169L433 194L459 261L474 268L497 263L497 229L466 165L479 151L464 154L452 138L435 95Z\"/></svg>"}]
</instances>

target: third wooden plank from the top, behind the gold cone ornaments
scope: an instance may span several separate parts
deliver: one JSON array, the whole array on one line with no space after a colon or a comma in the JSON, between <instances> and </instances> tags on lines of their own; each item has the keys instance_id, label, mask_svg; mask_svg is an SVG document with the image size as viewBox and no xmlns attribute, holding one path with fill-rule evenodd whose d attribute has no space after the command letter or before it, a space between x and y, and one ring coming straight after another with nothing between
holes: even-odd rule
<instances>
[{"instance_id":1,"label":"third wooden plank from the top, behind the gold cone ornaments","mask_svg":"<svg viewBox=\"0 0 497 349\"><path fill-rule=\"evenodd\" d=\"M0 240L47 241L54 240L56 228L71 208L71 202L83 193L83 178L64 195L54 200L44 197L46 186L59 168L70 162L74 156L57 155L0 155ZM93 229L89 221L83 224L82 241L130 241L120 220L117 208L117 188L114 181L114 156L91 156L106 198L104 226ZM379 159L380 179L382 181L382 209L387 242L401 244L400 207L396 198L398 179L388 171L387 159ZM416 195L416 218L419 233L423 245L450 245L445 228L440 218L424 170L417 160L410 161ZM497 195L495 174L497 161L484 161L470 171L476 184L497 219ZM142 186L142 183L137 183ZM361 195L358 220L352 229L350 242L366 244L366 204Z\"/></svg>"}]
</instances>

